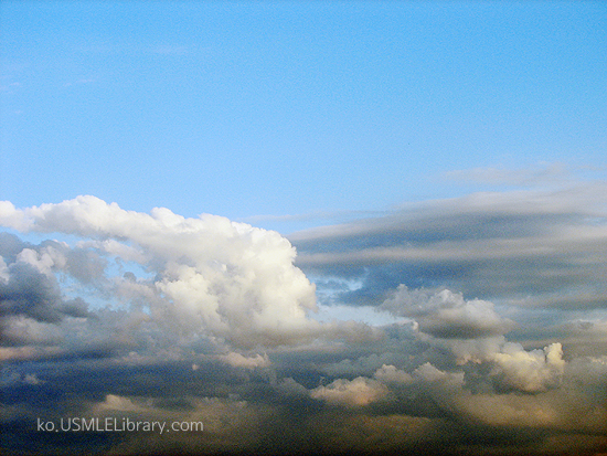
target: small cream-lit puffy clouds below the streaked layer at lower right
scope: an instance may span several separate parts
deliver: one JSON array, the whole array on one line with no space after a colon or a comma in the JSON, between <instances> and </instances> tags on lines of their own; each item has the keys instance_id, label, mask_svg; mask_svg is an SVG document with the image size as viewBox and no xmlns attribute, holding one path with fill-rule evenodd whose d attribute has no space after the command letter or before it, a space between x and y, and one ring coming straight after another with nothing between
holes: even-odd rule
<instances>
[{"instance_id":1,"label":"small cream-lit puffy clouds below the streaked layer at lower right","mask_svg":"<svg viewBox=\"0 0 607 456\"><path fill-rule=\"evenodd\" d=\"M557 385L563 375L562 344L555 342L543 350L526 351L520 343L507 342L502 335L513 328L513 321L500 317L490 301L466 300L461 294L448 289L430 293L400 285L382 308L414 319L422 333L447 339L434 343L449 348L459 364L492 363L490 375L499 378L502 388L529 393L546 391ZM430 364L419 369L416 372L425 372L427 379L437 377Z\"/></svg>"}]
</instances>

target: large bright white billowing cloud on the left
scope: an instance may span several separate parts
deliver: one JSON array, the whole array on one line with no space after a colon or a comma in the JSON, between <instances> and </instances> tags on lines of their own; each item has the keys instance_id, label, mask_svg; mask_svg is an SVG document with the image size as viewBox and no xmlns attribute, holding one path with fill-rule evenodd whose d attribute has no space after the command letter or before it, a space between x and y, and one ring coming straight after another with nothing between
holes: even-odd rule
<instances>
[{"instance_id":1,"label":"large bright white billowing cloud on the left","mask_svg":"<svg viewBox=\"0 0 607 456\"><path fill-rule=\"evenodd\" d=\"M124 211L94 197L25 210L3 203L1 214L0 223L13 229L92 238L81 248L63 247L63 253L50 246L23 248L2 290L3 306L12 312L57 321L75 305L61 304L51 272L85 284L107 282L108 261L99 255L115 255L115 262L138 262L156 276L152 282L114 277L114 286L103 284L103 293L130 301L139 295L155 321L173 325L175 331L219 337L236 347L266 347L288 344L317 330L307 318L316 308L315 287L292 265L295 250L276 232L206 214L184 219L167 209L150 215ZM47 296L29 296L25 286ZM47 305L50 300L56 304Z\"/></svg>"}]
</instances>

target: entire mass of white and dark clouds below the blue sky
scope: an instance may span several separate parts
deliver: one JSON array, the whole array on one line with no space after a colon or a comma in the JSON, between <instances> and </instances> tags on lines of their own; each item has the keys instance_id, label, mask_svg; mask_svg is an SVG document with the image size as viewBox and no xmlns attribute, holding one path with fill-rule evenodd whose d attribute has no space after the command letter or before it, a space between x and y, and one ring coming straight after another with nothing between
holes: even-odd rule
<instances>
[{"instance_id":1,"label":"entire mass of white and dark clouds below the blue sky","mask_svg":"<svg viewBox=\"0 0 607 456\"><path fill-rule=\"evenodd\" d=\"M289 240L94 197L0 202L2 452L605 453L600 188L430 201ZM322 322L328 306L364 317ZM36 430L75 416L204 431Z\"/></svg>"}]
</instances>

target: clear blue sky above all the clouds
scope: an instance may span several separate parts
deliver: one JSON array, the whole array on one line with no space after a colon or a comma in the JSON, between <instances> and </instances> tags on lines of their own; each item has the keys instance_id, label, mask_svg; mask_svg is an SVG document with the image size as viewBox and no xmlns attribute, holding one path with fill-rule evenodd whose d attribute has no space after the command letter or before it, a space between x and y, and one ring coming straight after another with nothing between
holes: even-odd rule
<instances>
[{"instance_id":1,"label":"clear blue sky above all the clouds","mask_svg":"<svg viewBox=\"0 0 607 456\"><path fill-rule=\"evenodd\" d=\"M606 15L603 2L3 1L2 199L247 220L449 197L452 170L601 166Z\"/></svg>"}]
</instances>

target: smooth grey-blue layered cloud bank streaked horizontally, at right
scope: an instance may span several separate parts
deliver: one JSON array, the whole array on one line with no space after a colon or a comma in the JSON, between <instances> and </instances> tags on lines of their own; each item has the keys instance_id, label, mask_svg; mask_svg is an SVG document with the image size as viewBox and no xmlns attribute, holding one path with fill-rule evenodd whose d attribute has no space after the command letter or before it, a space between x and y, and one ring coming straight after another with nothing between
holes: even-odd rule
<instances>
[{"instance_id":1,"label":"smooth grey-blue layered cloud bank streaked horizontally, at right","mask_svg":"<svg viewBox=\"0 0 607 456\"><path fill-rule=\"evenodd\" d=\"M479 192L289 235L309 276L358 282L332 299L376 305L400 284L482 300L599 307L607 289L607 187ZM583 299L577 300L577 296Z\"/></svg>"}]
</instances>

